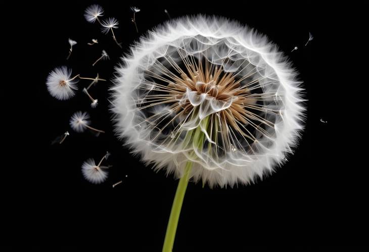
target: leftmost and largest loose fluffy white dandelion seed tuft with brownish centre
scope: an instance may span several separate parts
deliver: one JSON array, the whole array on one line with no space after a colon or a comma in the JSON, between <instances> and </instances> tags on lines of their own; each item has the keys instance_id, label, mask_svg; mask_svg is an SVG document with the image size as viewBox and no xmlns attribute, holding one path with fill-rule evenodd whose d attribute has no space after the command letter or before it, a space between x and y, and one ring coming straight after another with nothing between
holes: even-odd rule
<instances>
[{"instance_id":1,"label":"leftmost and largest loose fluffy white dandelion seed tuft with brownish centre","mask_svg":"<svg viewBox=\"0 0 369 252\"><path fill-rule=\"evenodd\" d=\"M77 90L75 80L79 75L71 78L72 70L66 66L57 67L49 74L46 85L50 94L60 100L66 100L74 96L74 90Z\"/></svg>"}]
</instances>

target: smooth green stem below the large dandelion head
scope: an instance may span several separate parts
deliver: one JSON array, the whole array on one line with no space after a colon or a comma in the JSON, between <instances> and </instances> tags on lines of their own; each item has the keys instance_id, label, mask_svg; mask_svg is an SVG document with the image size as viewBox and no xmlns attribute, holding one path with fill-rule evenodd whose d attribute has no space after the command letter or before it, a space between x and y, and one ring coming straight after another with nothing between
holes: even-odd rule
<instances>
[{"instance_id":1,"label":"smooth green stem below the large dandelion head","mask_svg":"<svg viewBox=\"0 0 369 252\"><path fill-rule=\"evenodd\" d=\"M189 177L192 169L192 162L188 161L184 168L184 175L179 179L177 191L175 192L172 210L170 211L167 231L165 233L163 252L172 252L175 232L177 231L180 209L182 208L184 194L189 183Z\"/></svg>"}]
</instances>

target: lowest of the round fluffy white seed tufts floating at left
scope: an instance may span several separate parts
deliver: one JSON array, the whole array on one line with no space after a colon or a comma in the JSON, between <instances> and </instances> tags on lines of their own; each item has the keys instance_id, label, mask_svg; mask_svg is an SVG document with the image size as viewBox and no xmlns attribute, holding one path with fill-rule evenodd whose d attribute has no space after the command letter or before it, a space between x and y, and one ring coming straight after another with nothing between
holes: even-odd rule
<instances>
[{"instance_id":1,"label":"lowest of the round fluffy white seed tufts floating at left","mask_svg":"<svg viewBox=\"0 0 369 252\"><path fill-rule=\"evenodd\" d=\"M104 182L108 177L108 172L106 169L109 168L109 166L102 166L104 159L106 159L106 156L104 156L98 165L96 165L94 159L87 159L82 164L82 174L83 177L93 184L100 184Z\"/></svg>"}]
</instances>

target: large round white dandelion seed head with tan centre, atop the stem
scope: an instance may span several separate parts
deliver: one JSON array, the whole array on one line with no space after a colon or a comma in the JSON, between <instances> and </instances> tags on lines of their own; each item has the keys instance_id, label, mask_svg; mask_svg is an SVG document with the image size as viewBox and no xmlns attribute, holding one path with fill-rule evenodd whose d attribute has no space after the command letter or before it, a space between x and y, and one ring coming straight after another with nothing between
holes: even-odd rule
<instances>
[{"instance_id":1,"label":"large round white dandelion seed head with tan centre, atop the stem","mask_svg":"<svg viewBox=\"0 0 369 252\"><path fill-rule=\"evenodd\" d=\"M209 186L283 164L303 129L297 73L255 30L184 17L151 31L117 67L115 130L147 164Z\"/></svg>"}]
</instances>

